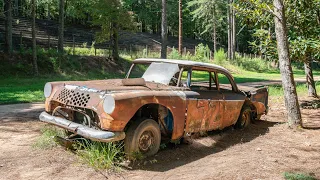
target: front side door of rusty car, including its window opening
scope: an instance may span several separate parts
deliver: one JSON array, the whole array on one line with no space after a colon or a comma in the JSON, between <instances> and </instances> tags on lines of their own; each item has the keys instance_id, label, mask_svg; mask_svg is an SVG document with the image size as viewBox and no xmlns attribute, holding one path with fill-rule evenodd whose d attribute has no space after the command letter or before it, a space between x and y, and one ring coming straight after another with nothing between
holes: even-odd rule
<instances>
[{"instance_id":1,"label":"front side door of rusty car, including its window opening","mask_svg":"<svg viewBox=\"0 0 320 180\"><path fill-rule=\"evenodd\" d=\"M208 71L192 71L190 89L199 93L187 97L187 133L209 131L221 127L223 95L217 89L216 80Z\"/></svg>"}]
</instances>

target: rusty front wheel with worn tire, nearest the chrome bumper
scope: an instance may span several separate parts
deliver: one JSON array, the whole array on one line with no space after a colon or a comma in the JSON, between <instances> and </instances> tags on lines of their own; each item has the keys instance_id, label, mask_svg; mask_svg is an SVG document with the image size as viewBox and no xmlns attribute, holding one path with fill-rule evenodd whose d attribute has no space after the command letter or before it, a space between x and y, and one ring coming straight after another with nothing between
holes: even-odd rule
<instances>
[{"instance_id":1,"label":"rusty front wheel with worn tire, nearest the chrome bumper","mask_svg":"<svg viewBox=\"0 0 320 180\"><path fill-rule=\"evenodd\" d=\"M161 132L152 119L136 121L128 128L124 139L124 151L129 158L135 153L143 157L156 154L160 148Z\"/></svg>"}]
</instances>

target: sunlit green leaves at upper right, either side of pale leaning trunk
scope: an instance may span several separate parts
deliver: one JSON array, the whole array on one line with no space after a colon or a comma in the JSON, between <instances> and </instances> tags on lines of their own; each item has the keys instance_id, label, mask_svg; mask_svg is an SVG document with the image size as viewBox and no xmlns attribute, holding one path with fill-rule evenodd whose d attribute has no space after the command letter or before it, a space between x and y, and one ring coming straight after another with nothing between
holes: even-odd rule
<instances>
[{"instance_id":1,"label":"sunlit green leaves at upper right, either side of pale leaning trunk","mask_svg":"<svg viewBox=\"0 0 320 180\"><path fill-rule=\"evenodd\" d=\"M320 8L320 2L285 0L284 3L291 59L303 62L306 61L306 55L310 54L313 59L319 60L320 19L315 14ZM246 0L235 4L235 8L243 18L242 23L255 23L252 26L254 39L250 43L252 50L266 55L269 60L277 59L276 39L271 31L274 28L272 2Z\"/></svg>"}]
</instances>

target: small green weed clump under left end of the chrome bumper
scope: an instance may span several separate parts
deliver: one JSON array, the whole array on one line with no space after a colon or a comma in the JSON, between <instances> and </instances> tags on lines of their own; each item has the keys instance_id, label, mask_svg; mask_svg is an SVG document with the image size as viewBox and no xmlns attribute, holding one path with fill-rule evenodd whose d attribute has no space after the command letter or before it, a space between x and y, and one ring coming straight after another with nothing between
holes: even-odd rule
<instances>
[{"instance_id":1,"label":"small green weed clump under left end of the chrome bumper","mask_svg":"<svg viewBox=\"0 0 320 180\"><path fill-rule=\"evenodd\" d=\"M51 125L43 127L40 132L42 133L41 136L33 144L33 147L40 149L51 149L57 146L58 143L54 140L54 137L64 137L66 135L63 129Z\"/></svg>"}]
</instances>

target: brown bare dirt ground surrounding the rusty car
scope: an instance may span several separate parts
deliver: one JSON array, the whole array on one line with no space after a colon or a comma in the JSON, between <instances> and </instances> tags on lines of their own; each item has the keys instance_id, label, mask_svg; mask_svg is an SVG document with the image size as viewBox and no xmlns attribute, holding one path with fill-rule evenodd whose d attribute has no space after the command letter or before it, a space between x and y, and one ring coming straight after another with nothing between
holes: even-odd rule
<instances>
[{"instance_id":1,"label":"brown bare dirt ground surrounding the rusty car","mask_svg":"<svg viewBox=\"0 0 320 180\"><path fill-rule=\"evenodd\" d=\"M62 147L32 147L45 125L38 121L42 104L0 106L0 179L283 179L284 172L320 179L320 130L288 129L283 99L271 98L270 105L245 130L168 145L120 173L94 170ZM302 115L319 120L320 109Z\"/></svg>"}]
</instances>

